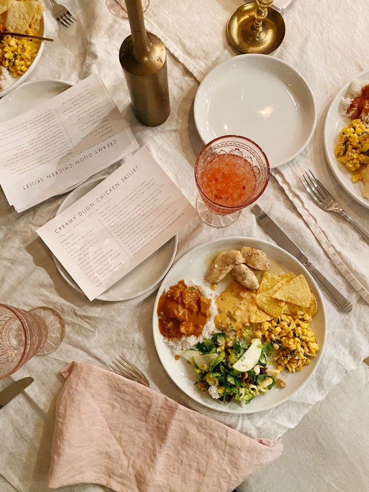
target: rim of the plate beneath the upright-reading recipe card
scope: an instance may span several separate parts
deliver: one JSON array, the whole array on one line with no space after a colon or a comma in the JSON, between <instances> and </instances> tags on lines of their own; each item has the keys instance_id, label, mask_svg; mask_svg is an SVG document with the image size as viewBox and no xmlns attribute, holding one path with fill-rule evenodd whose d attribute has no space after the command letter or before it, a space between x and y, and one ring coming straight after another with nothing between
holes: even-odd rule
<instances>
[{"instance_id":1,"label":"rim of the plate beneath the upright-reading recipe card","mask_svg":"<svg viewBox=\"0 0 369 492\"><path fill-rule=\"evenodd\" d=\"M106 176L98 176L98 177L95 177L95 178L92 178L90 180L87 180L83 183L81 183L79 186L77 186L71 193L69 193L65 198L64 200L62 201L62 203L59 205L58 207L58 210L56 211L55 213L55 216L56 217L57 215L59 215L61 212L63 212L63 205L64 203L68 200L68 198L70 197L70 195L72 193L74 193L76 190L78 190L81 186L87 186L87 184L91 184L93 182L102 182L104 181L105 178L107 178L109 175L106 175ZM97 186L97 185L96 185ZM88 192L87 192L88 193ZM73 204L72 204L73 205ZM173 236L172 238L170 238L167 242L171 241L172 239L174 238L174 244L173 244L173 251L171 253L171 256L170 256L170 260L169 260L169 263L168 263L168 266L165 267L164 269L164 273L162 274L162 276L160 276L159 279L157 279L153 284L150 284L150 286L147 288L145 287L143 290L140 290L139 293L136 293L134 295L129 295L129 296L123 296L123 297L120 297L119 299L111 299L109 297L106 297L104 296L104 293L106 292L106 289L104 292L102 292L100 295L98 295L94 300L102 300L102 301L105 301L105 302L121 302L121 301L124 301L124 300L129 300L129 299L134 299L142 294L145 294L146 292L148 292L149 290L151 290L153 287L155 287L165 276L166 274L168 273L170 267L172 266L173 264L173 261L174 261L174 258L175 258L175 254L177 252L177 247L178 247L178 234L175 234L175 236ZM155 251L154 251L155 253ZM153 254L153 253L152 253ZM70 281L70 279L68 278L68 276L65 274L65 273L68 273L67 270L64 268L64 266L60 263L60 261L58 260L58 258L56 258L56 256L52 253L52 256L53 256L53 260L54 260L54 264L58 270L58 272L60 273L60 275L62 276L62 278L64 278L64 280L71 286L73 287L75 290L77 290L78 292L82 293L83 295L86 295L83 290L79 287L79 285L73 280L72 278L72 281L73 283ZM137 265L139 266L139 265ZM128 272L129 273L129 272ZM69 275L69 273L68 273ZM123 277L122 277L123 278ZM119 280L118 280L119 281ZM110 287L109 287L110 288Z\"/></svg>"}]
</instances>

